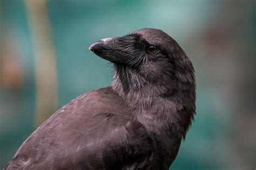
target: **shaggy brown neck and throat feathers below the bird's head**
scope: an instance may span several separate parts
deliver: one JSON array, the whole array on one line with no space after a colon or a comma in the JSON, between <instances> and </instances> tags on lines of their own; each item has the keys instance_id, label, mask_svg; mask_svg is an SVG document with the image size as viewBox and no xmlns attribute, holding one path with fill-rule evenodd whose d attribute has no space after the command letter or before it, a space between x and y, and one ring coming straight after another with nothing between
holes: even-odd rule
<instances>
[{"instance_id":1,"label":"shaggy brown neck and throat feathers below the bird's head","mask_svg":"<svg viewBox=\"0 0 256 170\"><path fill-rule=\"evenodd\" d=\"M152 120L150 124L156 124L158 129L176 125L185 138L196 110L194 74L183 71L175 79L159 79L160 82L152 82L135 69L115 66L112 89L140 112L140 122L147 124Z\"/></svg>"}]
</instances>

